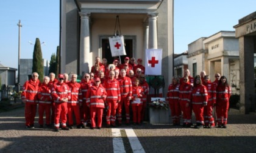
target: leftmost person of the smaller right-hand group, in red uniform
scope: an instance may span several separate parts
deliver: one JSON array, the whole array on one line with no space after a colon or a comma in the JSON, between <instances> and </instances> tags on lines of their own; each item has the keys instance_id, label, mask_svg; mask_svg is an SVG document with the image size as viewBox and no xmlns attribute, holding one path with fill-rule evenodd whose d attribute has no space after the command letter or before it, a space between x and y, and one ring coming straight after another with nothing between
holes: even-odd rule
<instances>
[{"instance_id":1,"label":"leftmost person of the smaller right-hand group, in red uniform","mask_svg":"<svg viewBox=\"0 0 256 153\"><path fill-rule=\"evenodd\" d=\"M179 80L177 76L172 77L172 83L168 87L166 100L169 101L171 109L172 124L174 126L180 125L180 103L179 103Z\"/></svg>"}]
</instances>

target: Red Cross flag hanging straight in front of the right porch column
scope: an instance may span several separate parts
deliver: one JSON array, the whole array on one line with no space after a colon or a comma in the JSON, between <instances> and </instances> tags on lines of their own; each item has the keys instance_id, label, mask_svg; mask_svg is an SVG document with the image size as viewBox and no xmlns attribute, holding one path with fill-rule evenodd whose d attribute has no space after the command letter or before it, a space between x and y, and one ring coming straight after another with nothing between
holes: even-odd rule
<instances>
[{"instance_id":1,"label":"Red Cross flag hanging straight in front of the right porch column","mask_svg":"<svg viewBox=\"0 0 256 153\"><path fill-rule=\"evenodd\" d=\"M162 50L146 49L145 75L162 75Z\"/></svg>"}]
</instances>

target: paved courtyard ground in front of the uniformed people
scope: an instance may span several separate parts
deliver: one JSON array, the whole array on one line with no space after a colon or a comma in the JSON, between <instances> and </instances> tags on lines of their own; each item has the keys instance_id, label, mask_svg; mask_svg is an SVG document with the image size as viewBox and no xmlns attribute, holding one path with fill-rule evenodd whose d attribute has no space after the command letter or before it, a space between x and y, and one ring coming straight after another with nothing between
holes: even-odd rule
<instances>
[{"instance_id":1,"label":"paved courtyard ground in front of the uniformed people","mask_svg":"<svg viewBox=\"0 0 256 153\"><path fill-rule=\"evenodd\" d=\"M230 112L227 129L194 129L171 124L121 126L113 129L71 129L53 132L24 126L24 107L0 113L0 152L256 152L256 115ZM127 129L135 136L130 136ZM119 139L115 139L115 138ZM132 139L137 138L137 139ZM123 143L122 143L123 141ZM140 149L133 148L136 141ZM113 142L115 142L113 144Z\"/></svg>"}]
</instances>

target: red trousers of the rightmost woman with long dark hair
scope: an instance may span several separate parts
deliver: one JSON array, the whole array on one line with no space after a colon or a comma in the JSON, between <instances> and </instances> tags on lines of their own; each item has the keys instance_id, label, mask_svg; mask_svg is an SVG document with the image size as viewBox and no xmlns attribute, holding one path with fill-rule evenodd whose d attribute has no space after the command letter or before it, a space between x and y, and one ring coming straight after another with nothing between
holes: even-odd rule
<instances>
[{"instance_id":1,"label":"red trousers of the rightmost woman with long dark hair","mask_svg":"<svg viewBox=\"0 0 256 153\"><path fill-rule=\"evenodd\" d=\"M227 111L229 110L229 101L216 101L217 122L219 125L227 124Z\"/></svg>"}]
</instances>

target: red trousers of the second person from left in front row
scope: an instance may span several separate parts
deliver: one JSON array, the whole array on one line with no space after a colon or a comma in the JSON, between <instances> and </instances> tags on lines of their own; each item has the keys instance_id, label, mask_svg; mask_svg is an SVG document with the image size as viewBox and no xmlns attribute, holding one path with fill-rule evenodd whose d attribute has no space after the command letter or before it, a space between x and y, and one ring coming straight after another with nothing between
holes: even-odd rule
<instances>
[{"instance_id":1,"label":"red trousers of the second person from left in front row","mask_svg":"<svg viewBox=\"0 0 256 153\"><path fill-rule=\"evenodd\" d=\"M39 103L38 106L38 123L43 125L43 114L45 112L46 124L51 124L51 104Z\"/></svg>"}]
</instances>

